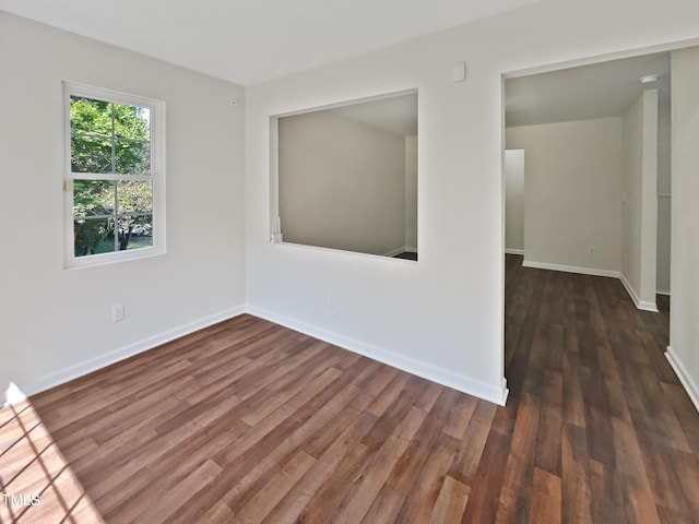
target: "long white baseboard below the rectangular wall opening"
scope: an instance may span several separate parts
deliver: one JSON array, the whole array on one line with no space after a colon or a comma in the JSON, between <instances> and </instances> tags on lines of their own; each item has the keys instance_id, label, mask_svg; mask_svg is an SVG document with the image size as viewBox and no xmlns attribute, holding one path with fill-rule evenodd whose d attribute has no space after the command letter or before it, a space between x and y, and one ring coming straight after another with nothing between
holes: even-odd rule
<instances>
[{"instance_id":1,"label":"long white baseboard below the rectangular wall opening","mask_svg":"<svg viewBox=\"0 0 699 524\"><path fill-rule=\"evenodd\" d=\"M308 324L306 322L301 322L286 315L277 314L262 308L249 306L246 309L246 312L254 317L269 320L270 322L274 322L275 324L280 324L294 331L298 331L315 338L328 342L335 346L340 346L350 352L364 355L365 357L371 358L372 360L377 360L381 364L401 369L411 374L422 377L423 379L427 379L433 382L437 382L438 384L442 384L448 388L461 391L463 393L484 398L488 402L493 402L494 404L503 406L505 402L507 401L508 389L505 378L502 379L499 388L493 386L472 377L462 373L455 373L449 369L434 366L430 362L399 355L394 352L366 344L364 342L355 341L344 335L323 330L322 327L318 327L317 325Z\"/></svg>"}]
</instances>

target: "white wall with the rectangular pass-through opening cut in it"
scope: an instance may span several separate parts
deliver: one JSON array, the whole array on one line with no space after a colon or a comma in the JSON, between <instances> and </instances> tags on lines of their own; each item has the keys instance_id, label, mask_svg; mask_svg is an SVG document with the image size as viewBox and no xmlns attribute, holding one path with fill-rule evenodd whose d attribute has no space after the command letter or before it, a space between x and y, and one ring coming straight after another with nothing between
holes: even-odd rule
<instances>
[{"instance_id":1,"label":"white wall with the rectangular pass-through opening cut in it","mask_svg":"<svg viewBox=\"0 0 699 524\"><path fill-rule=\"evenodd\" d=\"M249 87L249 307L501 402L501 74L696 38L697 20L695 0L543 1ZM269 117L415 87L419 262L270 245Z\"/></svg>"}]
</instances>

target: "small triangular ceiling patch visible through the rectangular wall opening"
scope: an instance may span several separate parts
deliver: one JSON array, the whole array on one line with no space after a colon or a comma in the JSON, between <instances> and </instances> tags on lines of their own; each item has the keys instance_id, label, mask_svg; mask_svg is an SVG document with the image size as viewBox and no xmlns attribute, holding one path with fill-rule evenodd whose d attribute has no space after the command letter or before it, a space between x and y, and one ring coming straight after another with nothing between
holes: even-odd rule
<instances>
[{"instance_id":1,"label":"small triangular ceiling patch visible through the rectangular wall opening","mask_svg":"<svg viewBox=\"0 0 699 524\"><path fill-rule=\"evenodd\" d=\"M416 93L336 107L330 111L401 136L417 134Z\"/></svg>"}]
</instances>

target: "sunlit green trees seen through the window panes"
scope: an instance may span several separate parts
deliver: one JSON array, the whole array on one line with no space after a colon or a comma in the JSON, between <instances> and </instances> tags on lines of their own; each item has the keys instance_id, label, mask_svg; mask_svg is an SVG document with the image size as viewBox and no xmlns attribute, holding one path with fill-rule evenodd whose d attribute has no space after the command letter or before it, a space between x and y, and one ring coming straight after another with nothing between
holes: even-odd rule
<instances>
[{"instance_id":1,"label":"sunlit green trees seen through the window panes","mask_svg":"<svg viewBox=\"0 0 699 524\"><path fill-rule=\"evenodd\" d=\"M150 109L70 96L74 255L153 245Z\"/></svg>"}]
</instances>

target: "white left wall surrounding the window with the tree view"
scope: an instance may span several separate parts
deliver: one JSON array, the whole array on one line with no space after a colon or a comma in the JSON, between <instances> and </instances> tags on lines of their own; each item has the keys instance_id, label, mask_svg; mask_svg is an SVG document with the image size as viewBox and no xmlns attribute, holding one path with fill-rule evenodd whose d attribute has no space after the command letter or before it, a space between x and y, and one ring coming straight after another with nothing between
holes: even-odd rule
<instances>
[{"instance_id":1,"label":"white left wall surrounding the window with the tree view","mask_svg":"<svg viewBox=\"0 0 699 524\"><path fill-rule=\"evenodd\" d=\"M4 12L0 75L0 404L244 305L241 87ZM64 269L61 81L166 102L165 255Z\"/></svg>"}]
</instances>

